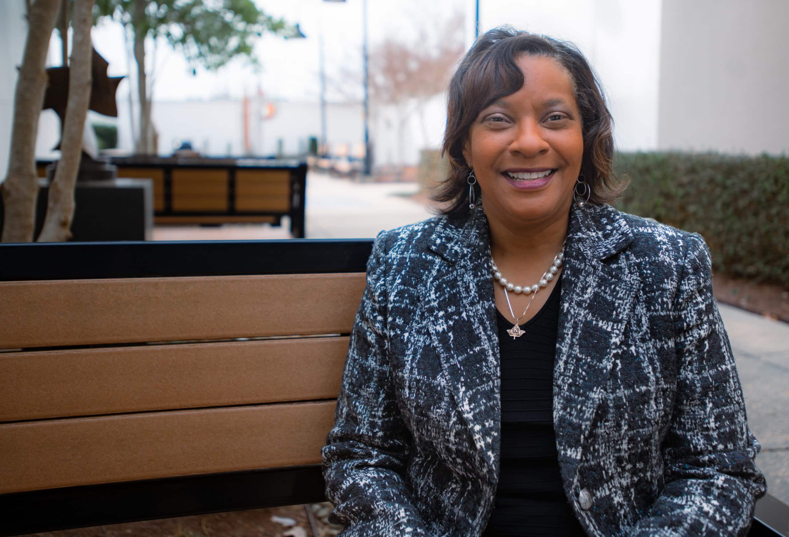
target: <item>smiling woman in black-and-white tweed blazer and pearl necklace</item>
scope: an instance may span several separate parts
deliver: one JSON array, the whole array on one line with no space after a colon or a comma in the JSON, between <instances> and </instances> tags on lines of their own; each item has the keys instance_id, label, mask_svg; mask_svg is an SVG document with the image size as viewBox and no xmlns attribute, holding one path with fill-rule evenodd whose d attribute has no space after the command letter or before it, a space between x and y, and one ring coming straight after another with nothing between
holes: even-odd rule
<instances>
[{"instance_id":1,"label":"smiling woman in black-and-white tweed blazer and pearl necklace","mask_svg":"<svg viewBox=\"0 0 789 537\"><path fill-rule=\"evenodd\" d=\"M382 232L323 448L341 535L746 535L765 480L701 235L605 203L574 46L454 74L441 217ZM495 509L494 509L495 508Z\"/></svg>"}]
</instances>

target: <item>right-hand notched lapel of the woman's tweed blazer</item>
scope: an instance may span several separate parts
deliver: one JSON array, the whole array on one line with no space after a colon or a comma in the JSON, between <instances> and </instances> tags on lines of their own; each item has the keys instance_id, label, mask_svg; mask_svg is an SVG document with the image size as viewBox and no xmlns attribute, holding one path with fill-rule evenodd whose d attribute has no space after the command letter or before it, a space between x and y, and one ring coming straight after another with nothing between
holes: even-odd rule
<instances>
[{"instance_id":1,"label":"right-hand notched lapel of the woman's tweed blazer","mask_svg":"<svg viewBox=\"0 0 789 537\"><path fill-rule=\"evenodd\" d=\"M623 258L605 261L632 240L630 227L610 206L570 211L553 379L556 443L569 482L639 286L638 273Z\"/></svg>"}]
</instances>

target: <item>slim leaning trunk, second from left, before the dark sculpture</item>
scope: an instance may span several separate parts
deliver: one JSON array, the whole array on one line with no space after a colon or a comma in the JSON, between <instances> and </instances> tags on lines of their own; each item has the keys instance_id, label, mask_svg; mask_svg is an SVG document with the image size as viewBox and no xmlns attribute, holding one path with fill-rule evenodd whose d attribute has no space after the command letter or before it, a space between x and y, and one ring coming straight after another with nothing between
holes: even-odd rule
<instances>
[{"instance_id":1,"label":"slim leaning trunk, second from left, before the dark sculpture","mask_svg":"<svg viewBox=\"0 0 789 537\"><path fill-rule=\"evenodd\" d=\"M88 103L91 98L91 27L94 0L76 0L72 14L74 28L71 66L69 69L69 102L63 120L60 161L50 184L47 216L39 235L39 243L60 243L71 239L74 217L74 183L82 158L82 135Z\"/></svg>"}]
</instances>

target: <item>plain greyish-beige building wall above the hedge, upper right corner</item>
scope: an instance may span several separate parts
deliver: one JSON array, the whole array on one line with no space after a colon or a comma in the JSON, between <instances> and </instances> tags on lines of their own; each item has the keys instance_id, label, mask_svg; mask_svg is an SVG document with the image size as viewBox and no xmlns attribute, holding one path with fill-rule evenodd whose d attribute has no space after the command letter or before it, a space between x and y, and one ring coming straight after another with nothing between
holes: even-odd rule
<instances>
[{"instance_id":1,"label":"plain greyish-beige building wall above the hedge, upper right corner","mask_svg":"<svg viewBox=\"0 0 789 537\"><path fill-rule=\"evenodd\" d=\"M787 0L663 0L658 146L789 150Z\"/></svg>"}]
</instances>

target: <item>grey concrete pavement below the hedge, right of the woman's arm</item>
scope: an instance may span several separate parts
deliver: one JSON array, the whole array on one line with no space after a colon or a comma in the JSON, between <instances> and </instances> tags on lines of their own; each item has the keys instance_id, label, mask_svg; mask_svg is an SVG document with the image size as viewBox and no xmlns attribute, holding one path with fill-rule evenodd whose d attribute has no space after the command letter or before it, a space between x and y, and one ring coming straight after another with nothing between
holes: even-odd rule
<instances>
[{"instance_id":1,"label":"grey concrete pavement below the hedge, right of the woman's arm","mask_svg":"<svg viewBox=\"0 0 789 537\"><path fill-rule=\"evenodd\" d=\"M789 324L718 303L735 354L756 462L768 491L789 502Z\"/></svg>"}]
</instances>

